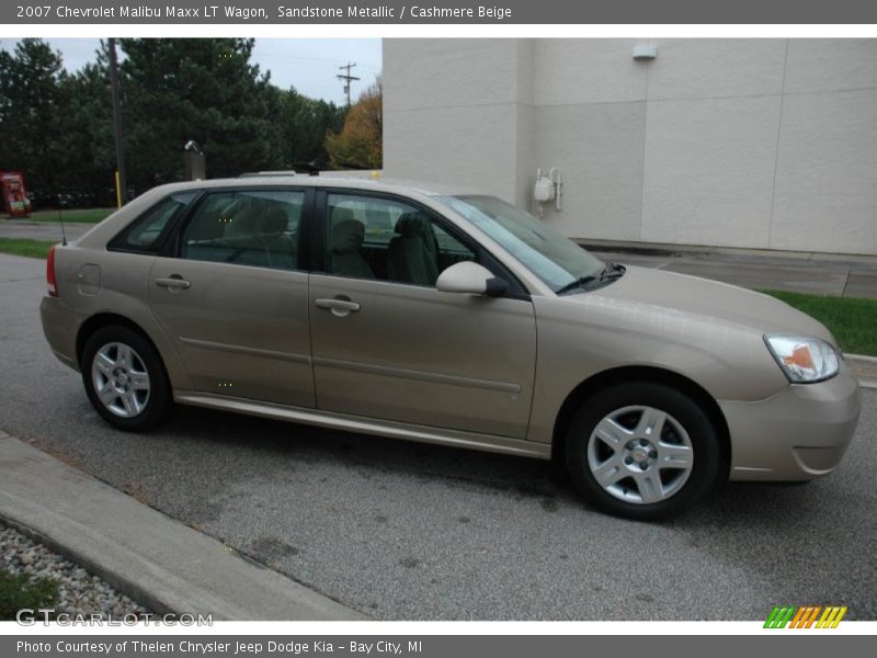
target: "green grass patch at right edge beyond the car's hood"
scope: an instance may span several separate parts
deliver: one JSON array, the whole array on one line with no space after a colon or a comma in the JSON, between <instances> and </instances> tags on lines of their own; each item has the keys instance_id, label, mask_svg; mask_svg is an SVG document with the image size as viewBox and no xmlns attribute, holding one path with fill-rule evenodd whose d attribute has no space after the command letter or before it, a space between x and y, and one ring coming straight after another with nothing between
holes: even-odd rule
<instances>
[{"instance_id":1,"label":"green grass patch at right edge beyond the car's hood","mask_svg":"<svg viewBox=\"0 0 877 658\"><path fill-rule=\"evenodd\" d=\"M762 291L815 317L850 354L877 356L877 299Z\"/></svg>"}]
</instances>

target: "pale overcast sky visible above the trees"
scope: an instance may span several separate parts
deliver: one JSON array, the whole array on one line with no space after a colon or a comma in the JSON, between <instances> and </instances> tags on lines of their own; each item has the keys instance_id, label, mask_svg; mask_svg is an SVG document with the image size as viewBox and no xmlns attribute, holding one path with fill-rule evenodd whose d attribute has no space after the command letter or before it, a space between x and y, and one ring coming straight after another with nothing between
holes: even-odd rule
<instances>
[{"instance_id":1,"label":"pale overcast sky visible above the trees","mask_svg":"<svg viewBox=\"0 0 877 658\"><path fill-rule=\"evenodd\" d=\"M0 48L12 50L16 38L0 39ZM60 50L68 71L79 70L94 61L98 38L44 38L53 49ZM352 98L374 82L380 73L381 54L379 38L257 38L250 59L260 70L271 71L276 87L295 87L315 99L344 104L343 83L335 76L344 71L338 67L355 63L352 76L362 78L353 82Z\"/></svg>"}]
</instances>

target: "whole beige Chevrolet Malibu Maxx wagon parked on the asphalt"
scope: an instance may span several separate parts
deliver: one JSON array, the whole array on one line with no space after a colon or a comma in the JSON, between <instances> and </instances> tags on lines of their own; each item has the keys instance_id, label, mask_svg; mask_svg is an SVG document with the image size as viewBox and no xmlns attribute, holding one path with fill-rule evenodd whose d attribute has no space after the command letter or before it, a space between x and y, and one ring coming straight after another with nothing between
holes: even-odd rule
<instances>
[{"instance_id":1,"label":"whole beige Chevrolet Malibu Maxx wagon parked on the asphalt","mask_svg":"<svg viewBox=\"0 0 877 658\"><path fill-rule=\"evenodd\" d=\"M151 190L53 249L43 328L98 412L173 402L550 458L603 510L831 473L856 379L771 297L604 263L483 195L318 177Z\"/></svg>"}]
</instances>

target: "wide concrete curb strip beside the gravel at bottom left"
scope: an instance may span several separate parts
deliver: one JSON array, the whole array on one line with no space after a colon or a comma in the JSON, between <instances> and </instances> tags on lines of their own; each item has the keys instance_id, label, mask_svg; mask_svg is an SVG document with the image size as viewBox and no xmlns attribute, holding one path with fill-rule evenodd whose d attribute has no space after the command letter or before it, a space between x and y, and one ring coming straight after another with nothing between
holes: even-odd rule
<instances>
[{"instance_id":1,"label":"wide concrete curb strip beside the gravel at bottom left","mask_svg":"<svg viewBox=\"0 0 877 658\"><path fill-rule=\"evenodd\" d=\"M0 518L157 613L368 619L2 431Z\"/></svg>"}]
</instances>

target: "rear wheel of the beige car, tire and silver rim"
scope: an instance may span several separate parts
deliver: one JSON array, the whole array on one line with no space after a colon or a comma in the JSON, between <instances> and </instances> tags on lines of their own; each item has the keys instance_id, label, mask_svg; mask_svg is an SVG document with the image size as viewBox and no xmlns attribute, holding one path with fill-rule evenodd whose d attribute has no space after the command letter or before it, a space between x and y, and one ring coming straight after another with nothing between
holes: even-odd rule
<instances>
[{"instance_id":1,"label":"rear wheel of the beige car, tire and silver rim","mask_svg":"<svg viewBox=\"0 0 877 658\"><path fill-rule=\"evenodd\" d=\"M113 427L141 432L171 409L170 387L156 349L127 327L103 327L82 350L82 383L89 400Z\"/></svg>"}]
</instances>

